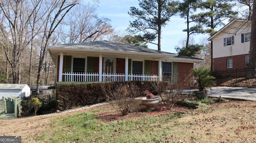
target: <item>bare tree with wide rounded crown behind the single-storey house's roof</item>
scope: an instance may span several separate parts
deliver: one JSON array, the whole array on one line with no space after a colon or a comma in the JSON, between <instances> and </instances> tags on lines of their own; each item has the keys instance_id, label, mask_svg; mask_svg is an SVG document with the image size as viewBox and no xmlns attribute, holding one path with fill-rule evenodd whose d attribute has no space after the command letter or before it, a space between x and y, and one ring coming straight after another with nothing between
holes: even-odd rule
<instances>
[{"instance_id":1,"label":"bare tree with wide rounded crown behind the single-storey house's roof","mask_svg":"<svg viewBox=\"0 0 256 143\"><path fill-rule=\"evenodd\" d=\"M100 41L113 32L108 18L99 18L96 8L90 3L85 6L78 5L71 10L66 21L69 29L61 38L64 43L84 43Z\"/></svg>"}]
</instances>

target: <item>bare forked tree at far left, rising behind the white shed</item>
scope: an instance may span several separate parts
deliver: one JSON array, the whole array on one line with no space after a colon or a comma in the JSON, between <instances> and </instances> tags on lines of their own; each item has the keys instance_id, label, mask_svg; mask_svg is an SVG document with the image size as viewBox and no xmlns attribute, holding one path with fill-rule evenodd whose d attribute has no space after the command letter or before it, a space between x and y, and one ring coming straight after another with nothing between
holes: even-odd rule
<instances>
[{"instance_id":1,"label":"bare forked tree at far left, rising behind the white shed","mask_svg":"<svg viewBox=\"0 0 256 143\"><path fill-rule=\"evenodd\" d=\"M22 52L30 41L30 29L28 24L34 11L40 6L40 0L1 0L1 17L4 19L7 27L7 33L4 34L5 39L10 41L12 49L0 41L6 53L6 59L12 69L12 83L20 82L20 61L22 60ZM11 54L9 54L9 52ZM18 78L18 79L17 79Z\"/></svg>"}]
</instances>

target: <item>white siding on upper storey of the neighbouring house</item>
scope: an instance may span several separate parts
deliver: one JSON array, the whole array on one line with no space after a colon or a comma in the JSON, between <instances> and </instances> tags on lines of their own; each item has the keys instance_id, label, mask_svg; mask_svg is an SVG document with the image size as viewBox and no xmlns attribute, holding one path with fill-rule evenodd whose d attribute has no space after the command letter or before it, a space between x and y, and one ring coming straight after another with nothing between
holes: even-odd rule
<instances>
[{"instance_id":1,"label":"white siding on upper storey of the neighbouring house","mask_svg":"<svg viewBox=\"0 0 256 143\"><path fill-rule=\"evenodd\" d=\"M218 35L215 35L212 39L213 58L248 54L250 51L250 41L241 43L241 34L250 32L250 27L250 22L236 21L218 33ZM234 45L224 46L224 38L231 36L234 36Z\"/></svg>"}]
</instances>

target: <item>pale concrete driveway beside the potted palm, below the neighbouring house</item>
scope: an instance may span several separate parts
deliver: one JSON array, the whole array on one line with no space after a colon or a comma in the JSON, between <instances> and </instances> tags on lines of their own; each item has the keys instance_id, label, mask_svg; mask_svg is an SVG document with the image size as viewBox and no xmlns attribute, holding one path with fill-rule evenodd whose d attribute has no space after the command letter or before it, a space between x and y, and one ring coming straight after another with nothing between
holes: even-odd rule
<instances>
[{"instance_id":1,"label":"pale concrete driveway beside the potted palm, below the neighbouring house","mask_svg":"<svg viewBox=\"0 0 256 143\"><path fill-rule=\"evenodd\" d=\"M194 89L185 90L186 94L194 94ZM222 98L236 98L244 100L256 101L256 88L240 88L240 87L212 87L212 90L208 88L208 96L210 97L222 97Z\"/></svg>"}]
</instances>

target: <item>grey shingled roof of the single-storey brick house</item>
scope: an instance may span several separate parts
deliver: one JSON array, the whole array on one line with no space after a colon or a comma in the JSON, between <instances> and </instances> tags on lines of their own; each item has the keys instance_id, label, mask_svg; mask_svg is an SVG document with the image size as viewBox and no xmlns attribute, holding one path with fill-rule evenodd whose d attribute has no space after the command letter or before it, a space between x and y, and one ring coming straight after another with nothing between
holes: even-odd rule
<instances>
[{"instance_id":1,"label":"grey shingled roof of the single-storey brick house","mask_svg":"<svg viewBox=\"0 0 256 143\"><path fill-rule=\"evenodd\" d=\"M71 43L63 45L53 45L47 47L50 55L58 57L60 52L85 52L85 53L105 53L109 55L133 55L133 56L150 56L159 57L164 60L176 60L176 61L189 61L189 62L202 62L203 59L189 57L184 55L178 55L174 53L168 53L164 51L158 51L150 48L144 48L139 46L125 45L122 43L115 43L111 41L94 41L86 43ZM179 60L180 59L180 60ZM56 60L56 59L55 59ZM55 61L56 63L57 61Z\"/></svg>"}]
</instances>

